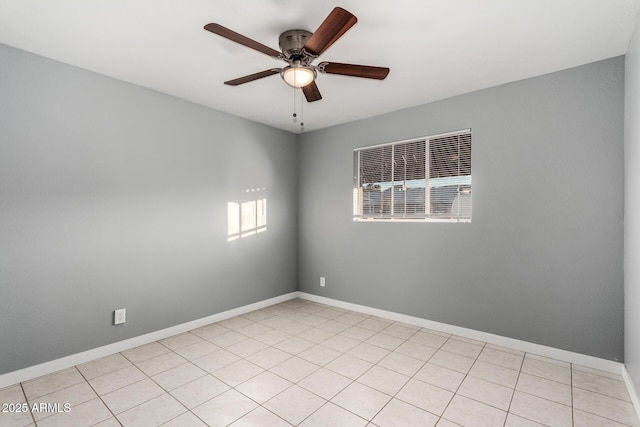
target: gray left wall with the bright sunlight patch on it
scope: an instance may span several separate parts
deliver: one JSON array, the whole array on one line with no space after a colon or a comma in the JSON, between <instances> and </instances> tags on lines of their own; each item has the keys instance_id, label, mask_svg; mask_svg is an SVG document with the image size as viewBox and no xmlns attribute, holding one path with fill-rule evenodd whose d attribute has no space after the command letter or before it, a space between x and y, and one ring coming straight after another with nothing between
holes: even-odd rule
<instances>
[{"instance_id":1,"label":"gray left wall with the bright sunlight patch on it","mask_svg":"<svg viewBox=\"0 0 640 427\"><path fill-rule=\"evenodd\" d=\"M296 150L0 45L0 374L295 291ZM227 242L251 188L267 231Z\"/></svg>"}]
</instances>

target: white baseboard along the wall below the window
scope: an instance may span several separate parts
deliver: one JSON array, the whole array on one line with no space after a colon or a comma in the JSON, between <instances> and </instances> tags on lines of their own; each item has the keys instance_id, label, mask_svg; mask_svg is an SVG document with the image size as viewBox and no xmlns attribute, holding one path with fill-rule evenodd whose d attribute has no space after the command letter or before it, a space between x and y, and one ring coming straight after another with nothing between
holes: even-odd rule
<instances>
[{"instance_id":1,"label":"white baseboard along the wall below the window","mask_svg":"<svg viewBox=\"0 0 640 427\"><path fill-rule=\"evenodd\" d=\"M601 359L599 357L588 356L572 351L560 350L541 344L534 344L528 341L521 341L514 338L507 338L500 335L490 334L487 332L476 331L474 329L434 322L432 320L427 320L420 317L408 316L405 314L394 313L392 311L352 304L318 295L308 294L305 292L298 292L298 298L318 302L321 304L331 305L338 308L344 308L346 310L357 311L360 313L369 314L371 316L378 316L385 319L394 320L396 322L408 323L410 325L420 326L422 328L434 329L436 331L458 335L464 338L470 338L495 345L500 345L503 347L509 347L515 350L550 357L552 359L561 360L564 362L575 363L577 365L599 369L601 371L611 372L618 375L622 375L624 369L624 365L620 362L614 362L612 360Z\"/></svg>"}]
</instances>

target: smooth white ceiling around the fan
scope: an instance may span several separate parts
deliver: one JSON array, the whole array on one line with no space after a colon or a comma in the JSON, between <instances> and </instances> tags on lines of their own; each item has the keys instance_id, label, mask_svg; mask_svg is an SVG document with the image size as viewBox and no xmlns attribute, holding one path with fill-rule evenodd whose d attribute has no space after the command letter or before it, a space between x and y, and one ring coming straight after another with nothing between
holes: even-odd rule
<instances>
[{"instance_id":1,"label":"smooth white ceiling around the fan","mask_svg":"<svg viewBox=\"0 0 640 427\"><path fill-rule=\"evenodd\" d=\"M278 75L223 84L286 63L203 26L279 50L281 32L313 32L335 6L358 23L315 63L391 72L320 74L305 131L622 55L640 13L640 0L0 0L0 43L299 132Z\"/></svg>"}]
</instances>

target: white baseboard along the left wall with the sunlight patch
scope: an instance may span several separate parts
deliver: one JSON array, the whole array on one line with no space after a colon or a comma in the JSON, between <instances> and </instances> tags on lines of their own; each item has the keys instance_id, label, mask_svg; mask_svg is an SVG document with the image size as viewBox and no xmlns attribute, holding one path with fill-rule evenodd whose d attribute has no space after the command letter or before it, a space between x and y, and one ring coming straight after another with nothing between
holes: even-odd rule
<instances>
[{"instance_id":1,"label":"white baseboard along the left wall with the sunlight patch","mask_svg":"<svg viewBox=\"0 0 640 427\"><path fill-rule=\"evenodd\" d=\"M52 360L50 362L41 363L39 365L30 366L28 368L20 369L18 371L9 372L0 375L0 389L28 381L33 378L41 377L43 375L51 374L61 369L67 369L72 366L80 365L82 363L90 362L91 360L99 359L101 357L109 356L114 353L129 350L140 345L148 344L153 341L158 341L164 338L168 338L172 335L181 334L201 326L208 325L210 323L219 322L221 320L228 319L230 317L239 316L241 314L248 313L250 311L259 310L264 307L268 307L273 304L288 301L298 297L298 292L291 292L278 297L269 298L264 301L259 301L253 304L245 305L242 307L234 308L232 310L216 313L211 316L203 317L201 319L193 320L191 322L182 323L180 325L172 326L170 328L162 329L148 334L140 335L137 337L129 338L124 341L118 341L113 344L108 344L102 347L94 348L91 350L83 351L82 353L72 354L60 359Z\"/></svg>"}]
</instances>

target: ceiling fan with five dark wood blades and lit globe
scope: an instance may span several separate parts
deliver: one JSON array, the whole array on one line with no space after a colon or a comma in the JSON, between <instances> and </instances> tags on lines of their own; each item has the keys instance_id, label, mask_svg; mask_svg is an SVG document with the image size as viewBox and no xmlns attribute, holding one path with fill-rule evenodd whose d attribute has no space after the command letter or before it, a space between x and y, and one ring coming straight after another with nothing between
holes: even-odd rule
<instances>
[{"instance_id":1,"label":"ceiling fan with five dark wood blades and lit globe","mask_svg":"<svg viewBox=\"0 0 640 427\"><path fill-rule=\"evenodd\" d=\"M350 12L336 7L320 24L315 33L306 30L287 30L280 34L280 49L278 52L268 46L238 34L220 24L207 24L204 29L221 37L240 43L251 49L262 52L271 57L282 59L289 65L283 68L270 68L258 73L224 82L226 85L238 86L254 80L280 74L282 79L294 88L302 88L308 102L322 99L315 78L318 71L326 74L340 74L343 76L364 77L367 79L383 80L389 74L389 68L370 65L343 64L338 62L311 63L322 52L327 50L344 33L358 21Z\"/></svg>"}]
</instances>

